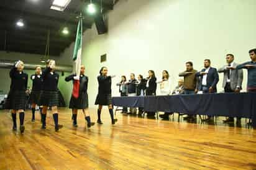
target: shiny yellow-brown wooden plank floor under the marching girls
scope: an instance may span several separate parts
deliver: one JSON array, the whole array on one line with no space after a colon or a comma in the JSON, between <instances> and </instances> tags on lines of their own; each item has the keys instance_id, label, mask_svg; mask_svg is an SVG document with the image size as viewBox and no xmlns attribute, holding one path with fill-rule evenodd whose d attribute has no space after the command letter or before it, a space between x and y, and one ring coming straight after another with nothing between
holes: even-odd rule
<instances>
[{"instance_id":1,"label":"shiny yellow-brown wooden plank floor under the marching girls","mask_svg":"<svg viewBox=\"0 0 256 170\"><path fill-rule=\"evenodd\" d=\"M90 111L96 120L96 110ZM104 110L103 125L87 129L80 114L73 128L70 110L61 109L64 127L56 133L52 114L46 130L40 129L39 114L34 123L30 117L27 112L21 135L12 132L11 115L0 111L0 169L256 169L256 131L245 126L122 114L112 126Z\"/></svg>"}]
</instances>

